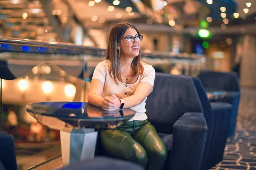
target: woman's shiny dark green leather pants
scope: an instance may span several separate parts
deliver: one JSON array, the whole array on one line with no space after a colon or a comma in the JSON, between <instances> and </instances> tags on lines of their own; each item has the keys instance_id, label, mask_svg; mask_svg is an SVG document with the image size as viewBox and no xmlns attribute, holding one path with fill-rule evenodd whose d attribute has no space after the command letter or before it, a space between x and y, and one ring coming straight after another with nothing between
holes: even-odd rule
<instances>
[{"instance_id":1,"label":"woman's shiny dark green leather pants","mask_svg":"<svg viewBox=\"0 0 256 170\"><path fill-rule=\"evenodd\" d=\"M147 170L162 170L166 147L157 130L147 120L125 122L116 129L100 132L102 147L112 157L142 165Z\"/></svg>"}]
</instances>

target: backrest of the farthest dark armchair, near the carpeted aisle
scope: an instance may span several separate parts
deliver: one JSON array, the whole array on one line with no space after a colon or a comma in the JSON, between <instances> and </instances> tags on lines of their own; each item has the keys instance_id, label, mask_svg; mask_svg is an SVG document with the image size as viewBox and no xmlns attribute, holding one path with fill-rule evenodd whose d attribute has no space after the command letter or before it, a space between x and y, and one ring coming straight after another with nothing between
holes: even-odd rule
<instances>
[{"instance_id":1,"label":"backrest of the farthest dark armchair, near the carpeted aisle","mask_svg":"<svg viewBox=\"0 0 256 170\"><path fill-rule=\"evenodd\" d=\"M207 90L240 91L238 75L233 71L201 71L198 78Z\"/></svg>"}]
</instances>

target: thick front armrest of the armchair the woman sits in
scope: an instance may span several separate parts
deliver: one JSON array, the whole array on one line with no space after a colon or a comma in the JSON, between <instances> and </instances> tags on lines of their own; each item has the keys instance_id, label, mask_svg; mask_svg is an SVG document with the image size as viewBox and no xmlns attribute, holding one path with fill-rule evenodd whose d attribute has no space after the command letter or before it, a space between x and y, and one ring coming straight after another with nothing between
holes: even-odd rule
<instances>
[{"instance_id":1,"label":"thick front armrest of the armchair the woman sits in","mask_svg":"<svg viewBox=\"0 0 256 170\"><path fill-rule=\"evenodd\" d=\"M172 170L200 170L207 136L203 113L187 112L173 126Z\"/></svg>"}]
</instances>

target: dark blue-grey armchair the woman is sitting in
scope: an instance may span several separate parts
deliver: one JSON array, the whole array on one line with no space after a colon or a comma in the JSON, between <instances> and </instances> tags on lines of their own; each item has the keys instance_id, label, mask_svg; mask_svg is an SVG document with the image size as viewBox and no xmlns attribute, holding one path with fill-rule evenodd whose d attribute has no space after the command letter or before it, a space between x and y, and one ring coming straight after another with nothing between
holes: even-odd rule
<instances>
[{"instance_id":1,"label":"dark blue-grey armchair the woman is sitting in","mask_svg":"<svg viewBox=\"0 0 256 170\"><path fill-rule=\"evenodd\" d=\"M192 79L156 73L146 110L148 120L166 145L164 170L199 170L207 123Z\"/></svg>"}]
</instances>

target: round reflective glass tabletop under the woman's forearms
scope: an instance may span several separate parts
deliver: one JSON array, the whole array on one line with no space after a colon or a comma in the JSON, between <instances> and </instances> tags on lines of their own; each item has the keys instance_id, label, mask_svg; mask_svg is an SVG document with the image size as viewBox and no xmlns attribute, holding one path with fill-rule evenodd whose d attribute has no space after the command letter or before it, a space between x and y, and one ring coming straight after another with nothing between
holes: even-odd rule
<instances>
[{"instance_id":1,"label":"round reflective glass tabletop under the woman's forearms","mask_svg":"<svg viewBox=\"0 0 256 170\"><path fill-rule=\"evenodd\" d=\"M40 102L26 105L26 111L43 125L58 130L73 128L109 129L131 119L136 111L118 109L104 111L87 102Z\"/></svg>"}]
</instances>

